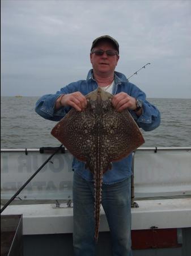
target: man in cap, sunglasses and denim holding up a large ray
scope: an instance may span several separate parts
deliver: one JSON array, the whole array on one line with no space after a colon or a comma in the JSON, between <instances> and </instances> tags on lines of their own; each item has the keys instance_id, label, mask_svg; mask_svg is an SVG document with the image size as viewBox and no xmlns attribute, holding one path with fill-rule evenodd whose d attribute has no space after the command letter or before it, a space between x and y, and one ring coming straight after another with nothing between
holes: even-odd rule
<instances>
[{"instance_id":1,"label":"man in cap, sunglasses and denim holding up a large ray","mask_svg":"<svg viewBox=\"0 0 191 256\"><path fill-rule=\"evenodd\" d=\"M146 95L126 77L114 69L119 60L119 45L111 36L96 38L92 43L90 61L93 69L87 79L73 82L56 94L48 94L36 103L36 112L46 119L60 121L73 107L83 111L86 94L97 86L111 92L112 104L118 112L129 109L138 126L145 131L160 124L160 113L146 101ZM120 131L119 131L120 132ZM131 255L131 160L132 155L112 164L112 170L103 175L101 204L108 220L112 238L113 256ZM75 256L95 255L94 182L84 163L73 161L73 202Z\"/></svg>"}]
</instances>

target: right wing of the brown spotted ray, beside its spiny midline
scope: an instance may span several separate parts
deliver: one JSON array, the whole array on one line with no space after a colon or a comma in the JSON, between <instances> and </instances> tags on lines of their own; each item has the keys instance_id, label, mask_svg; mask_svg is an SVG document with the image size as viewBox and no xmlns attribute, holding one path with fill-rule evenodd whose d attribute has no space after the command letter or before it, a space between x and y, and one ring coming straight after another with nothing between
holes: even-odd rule
<instances>
[{"instance_id":1,"label":"right wing of the brown spotted ray, beside its spiny midline","mask_svg":"<svg viewBox=\"0 0 191 256\"><path fill-rule=\"evenodd\" d=\"M128 110L118 113L111 106L105 114L103 127L104 147L108 148L111 162L128 156L145 142Z\"/></svg>"}]
</instances>

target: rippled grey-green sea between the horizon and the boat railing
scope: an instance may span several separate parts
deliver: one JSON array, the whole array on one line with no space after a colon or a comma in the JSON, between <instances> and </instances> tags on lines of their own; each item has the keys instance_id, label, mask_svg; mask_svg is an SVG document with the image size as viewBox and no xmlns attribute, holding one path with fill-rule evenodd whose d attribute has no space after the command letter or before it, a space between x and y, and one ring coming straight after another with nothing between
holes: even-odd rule
<instances>
[{"instance_id":1,"label":"rippled grey-green sea between the horizon and the boat railing","mask_svg":"<svg viewBox=\"0 0 191 256\"><path fill-rule=\"evenodd\" d=\"M1 97L1 148L57 147L60 142L50 131L56 122L35 112L39 97ZM191 99L148 98L160 111L161 124L142 131L142 147L190 147Z\"/></svg>"}]
</instances>

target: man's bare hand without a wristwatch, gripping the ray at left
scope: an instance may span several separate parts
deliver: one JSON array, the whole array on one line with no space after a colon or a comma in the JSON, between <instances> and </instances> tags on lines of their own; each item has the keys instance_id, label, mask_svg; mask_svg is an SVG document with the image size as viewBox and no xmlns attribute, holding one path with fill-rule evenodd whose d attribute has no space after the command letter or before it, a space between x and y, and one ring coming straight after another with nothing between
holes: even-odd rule
<instances>
[{"instance_id":1,"label":"man's bare hand without a wristwatch, gripping the ray at left","mask_svg":"<svg viewBox=\"0 0 191 256\"><path fill-rule=\"evenodd\" d=\"M62 94L57 98L55 109L59 109L62 106L71 106L77 111L82 111L87 106L87 100L86 97L80 92Z\"/></svg>"}]
</instances>

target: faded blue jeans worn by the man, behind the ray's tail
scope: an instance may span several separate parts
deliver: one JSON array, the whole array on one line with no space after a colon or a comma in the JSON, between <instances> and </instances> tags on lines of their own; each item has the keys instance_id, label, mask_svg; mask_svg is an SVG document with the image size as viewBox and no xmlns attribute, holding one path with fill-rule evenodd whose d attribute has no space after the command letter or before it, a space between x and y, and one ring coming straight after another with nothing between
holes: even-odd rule
<instances>
[{"instance_id":1,"label":"faded blue jeans worn by the man, behind the ray's tail","mask_svg":"<svg viewBox=\"0 0 191 256\"><path fill-rule=\"evenodd\" d=\"M102 185L101 205L108 220L113 256L131 256L131 178ZM75 256L95 255L94 183L74 172ZM98 238L99 239L99 238Z\"/></svg>"}]
</instances>

